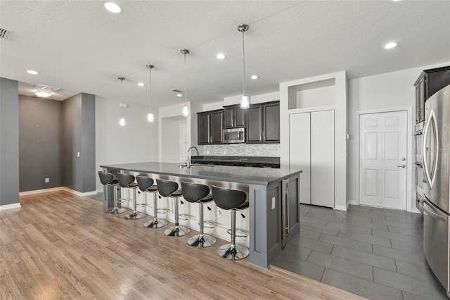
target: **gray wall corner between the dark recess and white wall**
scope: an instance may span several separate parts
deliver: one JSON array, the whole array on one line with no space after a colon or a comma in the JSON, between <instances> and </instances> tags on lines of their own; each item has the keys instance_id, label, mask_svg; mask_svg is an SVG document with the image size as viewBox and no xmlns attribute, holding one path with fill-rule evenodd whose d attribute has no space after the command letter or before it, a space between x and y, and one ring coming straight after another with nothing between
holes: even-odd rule
<instances>
[{"instance_id":1,"label":"gray wall corner between the dark recess and white wall","mask_svg":"<svg viewBox=\"0 0 450 300\"><path fill-rule=\"evenodd\" d=\"M64 186L96 190L95 96L77 94L63 101Z\"/></svg>"}]
</instances>

